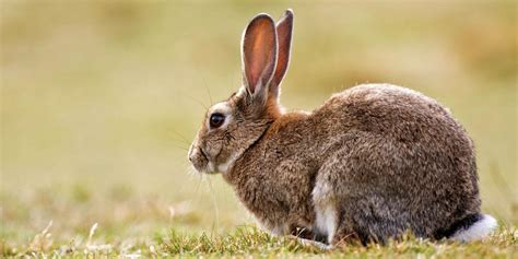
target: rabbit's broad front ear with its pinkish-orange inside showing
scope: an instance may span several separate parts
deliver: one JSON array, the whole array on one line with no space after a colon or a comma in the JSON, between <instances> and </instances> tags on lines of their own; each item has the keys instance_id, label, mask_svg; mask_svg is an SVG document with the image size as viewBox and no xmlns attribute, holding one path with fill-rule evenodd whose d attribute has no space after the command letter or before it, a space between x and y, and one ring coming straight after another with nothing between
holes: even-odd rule
<instances>
[{"instance_id":1,"label":"rabbit's broad front ear with its pinkish-orange inside showing","mask_svg":"<svg viewBox=\"0 0 518 259\"><path fill-rule=\"evenodd\" d=\"M276 62L276 32L268 14L255 16L243 34L243 71L245 85L252 96L266 97Z\"/></svg>"}]
</instances>

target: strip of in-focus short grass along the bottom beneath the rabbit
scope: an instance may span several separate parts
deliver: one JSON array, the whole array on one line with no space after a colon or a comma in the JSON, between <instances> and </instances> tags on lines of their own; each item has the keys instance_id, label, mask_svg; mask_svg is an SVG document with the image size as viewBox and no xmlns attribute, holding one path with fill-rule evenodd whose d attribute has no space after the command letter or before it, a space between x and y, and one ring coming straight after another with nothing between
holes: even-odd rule
<instances>
[{"instance_id":1,"label":"strip of in-focus short grass along the bottom beneath the rabbit","mask_svg":"<svg viewBox=\"0 0 518 259\"><path fill-rule=\"evenodd\" d=\"M518 232L501 227L483 242L460 244L450 240L431 242L405 236L386 245L343 244L331 249L303 245L294 237L271 236L254 226L240 226L222 235L186 235L175 228L156 234L146 242L98 243L97 225L92 226L89 237L81 242L71 239L54 244L50 224L24 246L0 243L3 257L67 256L67 257L348 257L348 258L514 258L518 252Z\"/></svg>"}]
</instances>

